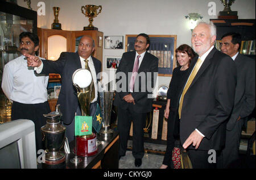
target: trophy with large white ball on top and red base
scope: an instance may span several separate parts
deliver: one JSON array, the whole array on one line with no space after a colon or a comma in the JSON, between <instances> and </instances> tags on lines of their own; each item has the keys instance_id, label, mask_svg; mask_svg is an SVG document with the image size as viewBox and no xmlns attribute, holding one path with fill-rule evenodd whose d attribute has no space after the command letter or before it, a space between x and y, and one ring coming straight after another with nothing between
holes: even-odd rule
<instances>
[{"instance_id":1,"label":"trophy with large white ball on top and red base","mask_svg":"<svg viewBox=\"0 0 256 180\"><path fill-rule=\"evenodd\" d=\"M85 69L77 69L73 73L73 86L77 90L77 98L79 99L82 116L90 116L90 103L95 97L94 83L92 80L88 61L85 62ZM74 151L77 155L93 156L97 153L95 133L92 132L90 135L76 136L76 142ZM72 162L76 163L76 159Z\"/></svg>"}]
</instances>

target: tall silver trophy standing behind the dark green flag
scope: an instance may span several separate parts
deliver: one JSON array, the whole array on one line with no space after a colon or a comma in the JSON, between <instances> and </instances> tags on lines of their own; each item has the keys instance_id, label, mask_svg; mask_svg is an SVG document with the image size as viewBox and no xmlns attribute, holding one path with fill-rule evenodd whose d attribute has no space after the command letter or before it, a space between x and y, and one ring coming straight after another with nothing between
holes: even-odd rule
<instances>
[{"instance_id":1,"label":"tall silver trophy standing behind the dark green flag","mask_svg":"<svg viewBox=\"0 0 256 180\"><path fill-rule=\"evenodd\" d=\"M102 128L100 131L101 137L109 137L113 135L113 130L110 128L110 121L111 121L111 112L112 112L112 104L113 104L113 90L114 83L113 81L109 82L106 88L101 86L100 90L100 106L101 112L103 116Z\"/></svg>"}]
</instances>

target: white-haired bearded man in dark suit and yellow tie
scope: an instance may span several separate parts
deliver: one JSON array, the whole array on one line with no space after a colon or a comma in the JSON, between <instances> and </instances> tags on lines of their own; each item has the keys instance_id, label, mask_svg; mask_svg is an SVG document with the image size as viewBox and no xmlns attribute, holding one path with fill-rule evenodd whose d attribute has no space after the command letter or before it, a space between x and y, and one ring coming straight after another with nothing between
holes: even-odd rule
<instances>
[{"instance_id":1,"label":"white-haired bearded man in dark suit and yellow tie","mask_svg":"<svg viewBox=\"0 0 256 180\"><path fill-rule=\"evenodd\" d=\"M220 163L226 120L234 102L236 66L229 56L214 48L215 40L212 23L195 27L191 42L199 57L193 59L180 92L180 141L193 168L216 168Z\"/></svg>"}]
</instances>

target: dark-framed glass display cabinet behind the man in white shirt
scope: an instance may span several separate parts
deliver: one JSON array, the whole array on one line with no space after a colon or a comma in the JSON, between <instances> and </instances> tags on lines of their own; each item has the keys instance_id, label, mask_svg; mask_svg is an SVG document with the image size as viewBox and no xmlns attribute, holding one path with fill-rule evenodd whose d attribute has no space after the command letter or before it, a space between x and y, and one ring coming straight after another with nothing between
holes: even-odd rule
<instances>
[{"instance_id":1,"label":"dark-framed glass display cabinet behind the man in white shirt","mask_svg":"<svg viewBox=\"0 0 256 180\"><path fill-rule=\"evenodd\" d=\"M15 3L1 1L0 6L0 83L5 64L20 56L19 34L23 31L37 34L37 12ZM11 102L0 91L0 123L11 119Z\"/></svg>"}]
</instances>

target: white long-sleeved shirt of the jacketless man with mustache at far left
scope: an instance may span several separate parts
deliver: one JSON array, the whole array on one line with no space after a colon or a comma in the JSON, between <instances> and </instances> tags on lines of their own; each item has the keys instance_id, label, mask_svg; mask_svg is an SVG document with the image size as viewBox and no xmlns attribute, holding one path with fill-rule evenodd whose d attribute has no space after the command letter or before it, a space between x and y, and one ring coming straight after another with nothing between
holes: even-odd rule
<instances>
[{"instance_id":1,"label":"white long-sleeved shirt of the jacketless man with mustache at far left","mask_svg":"<svg viewBox=\"0 0 256 180\"><path fill-rule=\"evenodd\" d=\"M25 56L11 60L3 69L2 89L11 101L36 104L47 101L48 76L35 76Z\"/></svg>"}]
</instances>

